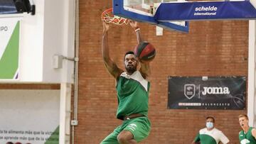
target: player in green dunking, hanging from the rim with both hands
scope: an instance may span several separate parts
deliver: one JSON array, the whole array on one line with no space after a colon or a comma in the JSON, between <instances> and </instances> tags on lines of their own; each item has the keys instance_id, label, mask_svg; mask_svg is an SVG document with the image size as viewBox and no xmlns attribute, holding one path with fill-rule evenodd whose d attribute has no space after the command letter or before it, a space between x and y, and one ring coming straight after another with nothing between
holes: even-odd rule
<instances>
[{"instance_id":1,"label":"player in green dunking, hanging from the rim with both hands","mask_svg":"<svg viewBox=\"0 0 256 144\"><path fill-rule=\"evenodd\" d=\"M114 129L101 144L115 143L139 143L144 140L151 129L148 115L149 98L149 63L140 63L130 51L124 55L125 70L117 67L117 64L110 58L107 32L110 26L103 21L102 34L102 57L108 72L117 82L117 118L122 120L122 125ZM140 29L137 22L131 21L130 26L134 28L137 35L137 42L142 42Z\"/></svg>"}]
</instances>

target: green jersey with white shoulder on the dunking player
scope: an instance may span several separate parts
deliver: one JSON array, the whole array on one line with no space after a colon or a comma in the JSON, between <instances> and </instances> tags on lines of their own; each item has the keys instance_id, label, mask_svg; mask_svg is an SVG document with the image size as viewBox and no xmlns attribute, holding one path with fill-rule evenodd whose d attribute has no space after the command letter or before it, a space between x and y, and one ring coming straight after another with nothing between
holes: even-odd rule
<instances>
[{"instance_id":1,"label":"green jersey with white shoulder on the dunking player","mask_svg":"<svg viewBox=\"0 0 256 144\"><path fill-rule=\"evenodd\" d=\"M117 81L117 118L122 119L133 113L148 115L150 83L139 71L128 75L122 72Z\"/></svg>"}]
</instances>

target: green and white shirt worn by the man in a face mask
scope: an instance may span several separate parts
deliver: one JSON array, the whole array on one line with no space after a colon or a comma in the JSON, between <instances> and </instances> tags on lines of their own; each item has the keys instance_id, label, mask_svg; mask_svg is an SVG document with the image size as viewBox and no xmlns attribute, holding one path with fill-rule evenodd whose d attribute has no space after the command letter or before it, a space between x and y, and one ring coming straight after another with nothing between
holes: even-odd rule
<instances>
[{"instance_id":1,"label":"green and white shirt worn by the man in a face mask","mask_svg":"<svg viewBox=\"0 0 256 144\"><path fill-rule=\"evenodd\" d=\"M220 141L221 143L226 144L229 142L223 132L219 131L217 128L213 128L210 131L208 131L207 128L201 129L194 141L200 141L201 144L218 144Z\"/></svg>"}]
</instances>

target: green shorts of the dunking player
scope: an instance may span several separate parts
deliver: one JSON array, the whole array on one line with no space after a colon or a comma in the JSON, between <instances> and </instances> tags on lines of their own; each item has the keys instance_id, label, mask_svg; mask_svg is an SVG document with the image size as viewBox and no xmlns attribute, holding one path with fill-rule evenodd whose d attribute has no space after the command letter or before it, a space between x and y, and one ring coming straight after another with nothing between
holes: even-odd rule
<instances>
[{"instance_id":1,"label":"green shorts of the dunking player","mask_svg":"<svg viewBox=\"0 0 256 144\"><path fill-rule=\"evenodd\" d=\"M117 135L121 131L130 131L134 135L134 140L140 142L149 136L151 123L147 117L137 117L123 121L121 126L114 129L100 144L119 144Z\"/></svg>"}]
</instances>

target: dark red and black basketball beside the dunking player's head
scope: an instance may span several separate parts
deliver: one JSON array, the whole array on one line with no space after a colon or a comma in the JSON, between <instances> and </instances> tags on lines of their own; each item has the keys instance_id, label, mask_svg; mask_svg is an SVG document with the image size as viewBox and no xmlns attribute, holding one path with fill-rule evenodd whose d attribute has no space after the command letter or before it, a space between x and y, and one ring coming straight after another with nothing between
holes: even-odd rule
<instances>
[{"instance_id":1,"label":"dark red and black basketball beside the dunking player's head","mask_svg":"<svg viewBox=\"0 0 256 144\"><path fill-rule=\"evenodd\" d=\"M141 62L151 62L156 56L156 49L149 42L141 42L134 48L134 55Z\"/></svg>"}]
</instances>

